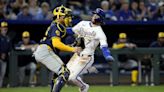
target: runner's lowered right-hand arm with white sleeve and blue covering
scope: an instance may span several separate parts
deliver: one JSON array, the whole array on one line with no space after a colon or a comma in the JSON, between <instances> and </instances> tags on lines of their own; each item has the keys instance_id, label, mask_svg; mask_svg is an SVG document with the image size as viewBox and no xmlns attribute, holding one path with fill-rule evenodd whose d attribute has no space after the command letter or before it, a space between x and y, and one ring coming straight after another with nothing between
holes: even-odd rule
<instances>
[{"instance_id":1,"label":"runner's lowered right-hand arm with white sleeve and blue covering","mask_svg":"<svg viewBox=\"0 0 164 92\"><path fill-rule=\"evenodd\" d=\"M100 48L103 53L103 56L107 61L114 61L114 58L111 55L111 52L108 48L107 38L104 32L99 33L99 40L100 40Z\"/></svg>"}]
</instances>

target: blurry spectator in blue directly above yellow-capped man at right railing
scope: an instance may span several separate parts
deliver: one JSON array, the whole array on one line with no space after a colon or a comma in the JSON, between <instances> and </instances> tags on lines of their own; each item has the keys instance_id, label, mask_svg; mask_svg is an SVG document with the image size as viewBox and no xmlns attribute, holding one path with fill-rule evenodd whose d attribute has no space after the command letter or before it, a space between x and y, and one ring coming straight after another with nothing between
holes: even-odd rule
<instances>
[{"instance_id":1,"label":"blurry spectator in blue directly above yellow-capped man at right railing","mask_svg":"<svg viewBox=\"0 0 164 92\"><path fill-rule=\"evenodd\" d=\"M121 10L118 12L118 20L129 21L133 20L132 12L129 9L129 3L124 2L121 6Z\"/></svg>"}]
</instances>

